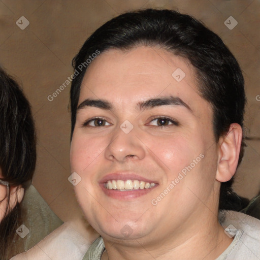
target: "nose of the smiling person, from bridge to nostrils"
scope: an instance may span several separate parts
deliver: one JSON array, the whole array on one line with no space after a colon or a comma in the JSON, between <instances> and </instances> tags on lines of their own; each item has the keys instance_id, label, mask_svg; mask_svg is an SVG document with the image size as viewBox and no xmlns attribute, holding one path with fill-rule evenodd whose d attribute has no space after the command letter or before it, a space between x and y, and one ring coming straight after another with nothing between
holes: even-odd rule
<instances>
[{"instance_id":1,"label":"nose of the smiling person, from bridge to nostrils","mask_svg":"<svg viewBox=\"0 0 260 260\"><path fill-rule=\"evenodd\" d=\"M137 126L129 120L123 121L111 134L111 142L105 152L107 159L123 161L127 156L142 159L145 150L137 135Z\"/></svg>"}]
</instances>

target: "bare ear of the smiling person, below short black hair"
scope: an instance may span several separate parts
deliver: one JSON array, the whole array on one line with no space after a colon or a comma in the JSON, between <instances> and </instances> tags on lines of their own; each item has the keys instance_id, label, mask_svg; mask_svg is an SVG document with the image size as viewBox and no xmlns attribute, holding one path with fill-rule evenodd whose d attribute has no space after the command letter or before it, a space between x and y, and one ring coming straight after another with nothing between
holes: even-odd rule
<instances>
[{"instance_id":1,"label":"bare ear of the smiling person, below short black hair","mask_svg":"<svg viewBox=\"0 0 260 260\"><path fill-rule=\"evenodd\" d=\"M242 136L242 127L237 123L232 123L228 134L219 138L216 180L226 182L235 174Z\"/></svg>"}]
</instances>

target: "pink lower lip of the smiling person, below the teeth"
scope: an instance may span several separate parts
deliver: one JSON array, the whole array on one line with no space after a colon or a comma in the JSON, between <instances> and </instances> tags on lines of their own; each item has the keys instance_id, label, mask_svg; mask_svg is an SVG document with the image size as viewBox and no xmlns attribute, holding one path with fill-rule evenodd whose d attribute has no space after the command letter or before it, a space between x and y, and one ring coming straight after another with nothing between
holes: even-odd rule
<instances>
[{"instance_id":1,"label":"pink lower lip of the smiling person, below the teeth","mask_svg":"<svg viewBox=\"0 0 260 260\"><path fill-rule=\"evenodd\" d=\"M113 199L117 200L132 200L139 198L141 196L144 196L145 194L149 193L152 191L154 188L157 187L158 184L156 184L154 187L148 188L148 189L136 189L136 190L131 190L131 191L120 191L118 189L107 189L105 187L105 184L102 183L101 189L104 191L104 193Z\"/></svg>"}]
</instances>

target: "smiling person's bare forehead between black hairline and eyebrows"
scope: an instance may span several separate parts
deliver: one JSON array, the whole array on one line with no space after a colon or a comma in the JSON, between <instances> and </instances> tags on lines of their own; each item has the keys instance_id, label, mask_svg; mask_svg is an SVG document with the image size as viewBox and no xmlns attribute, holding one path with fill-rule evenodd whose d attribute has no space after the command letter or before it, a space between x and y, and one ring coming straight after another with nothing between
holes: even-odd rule
<instances>
[{"instance_id":1,"label":"smiling person's bare forehead between black hairline and eyebrows","mask_svg":"<svg viewBox=\"0 0 260 260\"><path fill-rule=\"evenodd\" d=\"M88 67L79 104L86 98L106 98L123 109L166 95L180 98L194 110L209 108L198 93L194 69L184 58L155 47L109 49Z\"/></svg>"}]
</instances>

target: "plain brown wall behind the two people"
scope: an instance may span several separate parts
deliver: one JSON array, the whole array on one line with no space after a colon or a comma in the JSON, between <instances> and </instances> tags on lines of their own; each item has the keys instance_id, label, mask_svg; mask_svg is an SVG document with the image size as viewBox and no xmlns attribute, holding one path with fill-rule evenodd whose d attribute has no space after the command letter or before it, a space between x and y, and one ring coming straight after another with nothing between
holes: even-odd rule
<instances>
[{"instance_id":1,"label":"plain brown wall behind the two people","mask_svg":"<svg viewBox=\"0 0 260 260\"><path fill-rule=\"evenodd\" d=\"M248 99L245 134L251 140L247 140L235 190L251 199L260 189L259 0L0 0L0 64L23 86L36 120L38 160L33 184L63 221L82 216L68 181L70 86L52 101L48 96L71 76L72 58L96 28L125 11L148 7L177 9L200 19L240 62ZM22 16L29 22L26 28ZM233 29L225 25L235 24L230 16L238 22Z\"/></svg>"}]
</instances>

